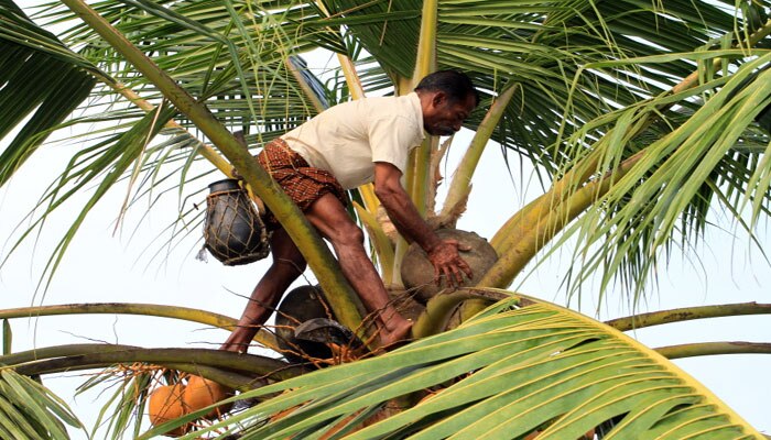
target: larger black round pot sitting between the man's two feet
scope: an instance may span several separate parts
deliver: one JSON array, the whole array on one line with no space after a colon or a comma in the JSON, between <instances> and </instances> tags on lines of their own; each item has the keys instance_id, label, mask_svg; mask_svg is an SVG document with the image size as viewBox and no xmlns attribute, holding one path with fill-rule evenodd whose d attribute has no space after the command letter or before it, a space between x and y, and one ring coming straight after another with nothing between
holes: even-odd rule
<instances>
[{"instance_id":1,"label":"larger black round pot sitting between the man's two feet","mask_svg":"<svg viewBox=\"0 0 771 440\"><path fill-rule=\"evenodd\" d=\"M332 318L330 310L319 287L300 286L284 296L275 316L275 336L287 361L306 362L301 352L317 359L333 356L332 350L321 342L294 338L294 329L297 326L314 318Z\"/></svg>"}]
</instances>

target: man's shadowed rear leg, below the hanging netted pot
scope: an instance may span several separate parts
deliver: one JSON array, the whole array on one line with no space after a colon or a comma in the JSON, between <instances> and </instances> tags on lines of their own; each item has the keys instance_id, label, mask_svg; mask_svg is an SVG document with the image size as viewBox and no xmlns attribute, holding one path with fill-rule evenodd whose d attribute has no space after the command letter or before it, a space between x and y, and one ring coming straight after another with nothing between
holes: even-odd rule
<instances>
[{"instance_id":1,"label":"man's shadowed rear leg, below the hanging netted pot","mask_svg":"<svg viewBox=\"0 0 771 440\"><path fill-rule=\"evenodd\" d=\"M273 264L254 287L241 319L220 350L246 352L261 324L271 316L289 286L305 271L305 258L280 228L271 237Z\"/></svg>"}]
</instances>

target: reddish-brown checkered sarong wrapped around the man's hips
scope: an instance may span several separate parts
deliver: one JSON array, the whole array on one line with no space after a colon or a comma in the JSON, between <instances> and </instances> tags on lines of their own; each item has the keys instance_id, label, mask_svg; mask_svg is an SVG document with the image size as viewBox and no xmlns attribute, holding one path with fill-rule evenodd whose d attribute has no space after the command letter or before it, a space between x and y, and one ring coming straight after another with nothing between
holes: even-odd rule
<instances>
[{"instance_id":1,"label":"reddish-brown checkered sarong wrapped around the man's hips","mask_svg":"<svg viewBox=\"0 0 771 440\"><path fill-rule=\"evenodd\" d=\"M257 160L303 212L327 193L337 197L344 207L348 205L345 190L335 176L308 165L281 138L265 144ZM271 231L281 227L269 209L265 209L263 221Z\"/></svg>"}]
</instances>

